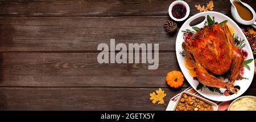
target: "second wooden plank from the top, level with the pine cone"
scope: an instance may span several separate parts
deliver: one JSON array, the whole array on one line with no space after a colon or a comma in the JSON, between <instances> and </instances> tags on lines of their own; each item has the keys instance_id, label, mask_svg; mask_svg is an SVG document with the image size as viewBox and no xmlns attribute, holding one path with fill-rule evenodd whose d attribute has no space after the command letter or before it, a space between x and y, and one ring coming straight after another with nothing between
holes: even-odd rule
<instances>
[{"instance_id":1,"label":"second wooden plank from the top, level with the pine cone","mask_svg":"<svg viewBox=\"0 0 256 122\"><path fill-rule=\"evenodd\" d=\"M159 43L175 50L167 16L0 18L0 51L95 51L100 43Z\"/></svg>"}]
</instances>

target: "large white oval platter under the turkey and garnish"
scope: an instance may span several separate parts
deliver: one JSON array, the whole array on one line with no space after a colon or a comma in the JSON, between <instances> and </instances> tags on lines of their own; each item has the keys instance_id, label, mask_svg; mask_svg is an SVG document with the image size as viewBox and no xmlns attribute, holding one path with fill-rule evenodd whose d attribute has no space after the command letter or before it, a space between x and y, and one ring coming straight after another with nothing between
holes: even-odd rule
<instances>
[{"instance_id":1,"label":"large white oval platter under the turkey and garnish","mask_svg":"<svg viewBox=\"0 0 256 122\"><path fill-rule=\"evenodd\" d=\"M228 24L230 25L230 27L234 28L235 34L237 34L239 37L245 39L245 47L243 47L243 50L246 50L248 53L247 59L254 59L253 52L251 51L250 44L247 41L245 34L243 34L240 27L238 27L238 25L232 19L230 19L228 16L221 14L219 12L214 12L214 11L200 12L199 14L193 15L191 18L189 18L187 21L185 21L185 23L181 26L179 33L177 34L176 56L177 56L177 61L179 62L181 71L183 72L185 78L188 80L189 84L195 90L196 90L197 85L199 84L199 81L194 80L193 77L189 75L188 69L185 67L185 64L184 64L185 58L179 54L180 51L183 51L181 45L182 45L182 42L184 42L183 32L181 32L181 31L185 31L185 29L193 30L192 27L189 26L189 23L191 21L193 21L194 19L199 18L200 16L205 16L205 20L207 20L207 15L209 15L211 18L212 18L212 16L214 16L215 21L218 23L220 23L221 21L224 21L224 20L228 20ZM199 27L199 28L201 28L203 26L204 26L204 21L202 23L196 25L196 27ZM243 75L243 77L248 78L248 80L244 79L244 80L238 80L235 82L235 85L240 86L240 90L238 91L237 94L225 96L224 94L212 92L207 88L205 88L205 89L203 88L203 90L196 90L196 91L198 93L200 93L201 95L203 95L205 98L211 99L213 101L229 101L229 100L235 99L235 98L239 97L240 95L242 95L249 88L251 82L253 81L254 60L253 60L253 62L249 63L248 65L250 66L250 71L247 68L245 68L245 73ZM226 89L220 89L220 90L223 93Z\"/></svg>"}]
</instances>

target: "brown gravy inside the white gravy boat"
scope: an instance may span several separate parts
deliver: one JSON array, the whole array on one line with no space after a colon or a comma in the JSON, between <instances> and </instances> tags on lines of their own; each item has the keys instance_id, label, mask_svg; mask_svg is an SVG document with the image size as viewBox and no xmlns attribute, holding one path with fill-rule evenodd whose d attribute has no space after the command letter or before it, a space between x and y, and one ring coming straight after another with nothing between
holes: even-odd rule
<instances>
[{"instance_id":1,"label":"brown gravy inside the white gravy boat","mask_svg":"<svg viewBox=\"0 0 256 122\"><path fill-rule=\"evenodd\" d=\"M242 3L240 3L240 2L233 2L233 3L234 3L234 6L236 6L236 8L237 8L238 15L243 20L249 21L249 20L253 19L253 14L247 7L242 5Z\"/></svg>"}]
</instances>

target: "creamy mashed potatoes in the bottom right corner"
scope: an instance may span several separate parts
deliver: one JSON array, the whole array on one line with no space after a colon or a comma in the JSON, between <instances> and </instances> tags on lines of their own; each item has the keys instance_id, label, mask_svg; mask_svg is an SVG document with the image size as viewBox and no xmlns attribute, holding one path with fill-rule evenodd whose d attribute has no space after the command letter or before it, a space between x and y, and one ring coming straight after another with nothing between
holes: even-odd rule
<instances>
[{"instance_id":1,"label":"creamy mashed potatoes in the bottom right corner","mask_svg":"<svg viewBox=\"0 0 256 122\"><path fill-rule=\"evenodd\" d=\"M229 111L256 111L256 98L243 97L230 105Z\"/></svg>"}]
</instances>

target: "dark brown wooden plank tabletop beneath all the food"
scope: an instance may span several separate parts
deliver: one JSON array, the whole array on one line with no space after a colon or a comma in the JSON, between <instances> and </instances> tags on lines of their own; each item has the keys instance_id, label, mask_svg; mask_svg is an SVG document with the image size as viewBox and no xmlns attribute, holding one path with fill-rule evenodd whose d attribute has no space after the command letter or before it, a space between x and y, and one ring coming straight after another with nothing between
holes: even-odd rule
<instances>
[{"instance_id":1,"label":"dark brown wooden plank tabletop beneath all the food","mask_svg":"<svg viewBox=\"0 0 256 122\"><path fill-rule=\"evenodd\" d=\"M175 90L165 82L168 71L180 70L177 33L163 28L172 1L0 0L0 110L165 110L149 94L163 88L168 104L189 86ZM186 2L191 15L206 4ZM214 11L230 16L229 1L214 0ZM159 43L159 68L99 64L97 46L110 38ZM245 94L256 95L255 80Z\"/></svg>"}]
</instances>

